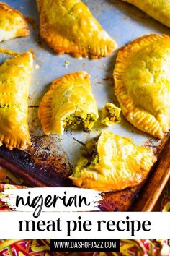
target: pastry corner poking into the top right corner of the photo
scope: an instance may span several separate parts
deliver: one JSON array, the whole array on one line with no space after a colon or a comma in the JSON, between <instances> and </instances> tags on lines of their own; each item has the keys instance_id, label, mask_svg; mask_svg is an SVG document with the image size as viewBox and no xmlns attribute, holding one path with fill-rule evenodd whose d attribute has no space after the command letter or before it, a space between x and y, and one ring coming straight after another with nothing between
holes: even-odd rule
<instances>
[{"instance_id":1,"label":"pastry corner poking into the top right corner of the photo","mask_svg":"<svg viewBox=\"0 0 170 256\"><path fill-rule=\"evenodd\" d=\"M170 0L122 0L135 5L143 12L170 27Z\"/></svg>"}]
</instances>

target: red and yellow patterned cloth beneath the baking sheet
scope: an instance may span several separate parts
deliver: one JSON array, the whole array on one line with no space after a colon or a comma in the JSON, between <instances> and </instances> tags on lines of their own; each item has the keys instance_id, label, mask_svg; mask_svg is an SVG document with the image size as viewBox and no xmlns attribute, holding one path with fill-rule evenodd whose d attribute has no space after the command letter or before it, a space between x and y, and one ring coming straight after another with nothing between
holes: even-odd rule
<instances>
[{"instance_id":1,"label":"red and yellow patterned cloth beneath the baking sheet","mask_svg":"<svg viewBox=\"0 0 170 256\"><path fill-rule=\"evenodd\" d=\"M0 167L0 210L10 210L4 205L4 189L22 189L26 184L9 171ZM170 211L170 182L164 190L162 211ZM1 230L1 229L0 229ZM120 253L52 253L50 241L45 239L0 240L0 256L170 256L168 242L162 239L121 239Z\"/></svg>"}]
</instances>

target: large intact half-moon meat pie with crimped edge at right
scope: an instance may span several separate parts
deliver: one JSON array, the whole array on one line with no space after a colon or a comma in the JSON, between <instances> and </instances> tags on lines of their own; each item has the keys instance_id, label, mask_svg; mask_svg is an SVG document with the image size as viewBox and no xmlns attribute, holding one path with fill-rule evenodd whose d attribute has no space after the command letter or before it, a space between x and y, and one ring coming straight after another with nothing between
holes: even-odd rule
<instances>
[{"instance_id":1,"label":"large intact half-moon meat pie with crimped edge at right","mask_svg":"<svg viewBox=\"0 0 170 256\"><path fill-rule=\"evenodd\" d=\"M146 35L122 47L114 71L122 114L138 129L163 138L169 131L170 38Z\"/></svg>"}]
</instances>

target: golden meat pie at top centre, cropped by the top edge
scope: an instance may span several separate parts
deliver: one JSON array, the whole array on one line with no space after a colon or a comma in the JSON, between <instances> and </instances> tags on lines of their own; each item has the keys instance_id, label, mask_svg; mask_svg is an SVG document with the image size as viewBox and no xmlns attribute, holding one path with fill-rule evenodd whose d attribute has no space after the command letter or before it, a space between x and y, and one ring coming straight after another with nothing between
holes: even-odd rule
<instances>
[{"instance_id":1,"label":"golden meat pie at top centre, cropped by the top edge","mask_svg":"<svg viewBox=\"0 0 170 256\"><path fill-rule=\"evenodd\" d=\"M37 0L40 35L58 54L108 56L116 43L80 0Z\"/></svg>"}]
</instances>

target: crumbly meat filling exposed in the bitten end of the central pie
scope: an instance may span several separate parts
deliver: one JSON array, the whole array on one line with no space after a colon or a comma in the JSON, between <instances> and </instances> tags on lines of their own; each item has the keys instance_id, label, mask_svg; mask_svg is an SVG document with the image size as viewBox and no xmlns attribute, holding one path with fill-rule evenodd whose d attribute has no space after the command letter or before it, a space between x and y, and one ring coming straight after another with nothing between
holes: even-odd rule
<instances>
[{"instance_id":1,"label":"crumbly meat filling exposed in the bitten end of the central pie","mask_svg":"<svg viewBox=\"0 0 170 256\"><path fill-rule=\"evenodd\" d=\"M84 118L75 113L64 119L63 127L64 129L79 129L83 127L85 131L89 131L94 126L96 120L97 117L94 114L87 114L86 118Z\"/></svg>"}]
</instances>

